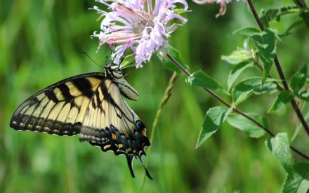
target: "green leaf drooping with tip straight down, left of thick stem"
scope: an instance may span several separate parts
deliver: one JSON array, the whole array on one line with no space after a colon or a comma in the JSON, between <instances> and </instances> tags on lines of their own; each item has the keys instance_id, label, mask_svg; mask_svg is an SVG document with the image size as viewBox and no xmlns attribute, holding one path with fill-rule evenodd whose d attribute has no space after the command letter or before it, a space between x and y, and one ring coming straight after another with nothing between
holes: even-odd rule
<instances>
[{"instance_id":1,"label":"green leaf drooping with tip straight down, left of thick stem","mask_svg":"<svg viewBox=\"0 0 309 193\"><path fill-rule=\"evenodd\" d=\"M258 58L263 65L262 85L267 79L272 62L275 59L277 37L277 34L270 29L265 29L263 32L251 36L258 50Z\"/></svg>"}]
</instances>

